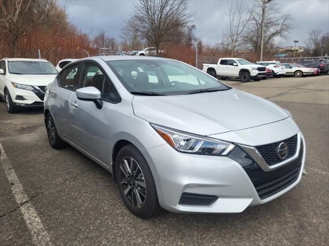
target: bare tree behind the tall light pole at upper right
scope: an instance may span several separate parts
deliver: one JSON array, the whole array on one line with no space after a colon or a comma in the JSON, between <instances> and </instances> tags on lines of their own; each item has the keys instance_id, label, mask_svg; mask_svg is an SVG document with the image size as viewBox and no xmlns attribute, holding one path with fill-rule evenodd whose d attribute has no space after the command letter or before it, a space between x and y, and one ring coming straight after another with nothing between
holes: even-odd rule
<instances>
[{"instance_id":1,"label":"bare tree behind the tall light pole at upper right","mask_svg":"<svg viewBox=\"0 0 329 246\"><path fill-rule=\"evenodd\" d=\"M261 49L262 37L262 4L258 0L255 2L256 7L249 10L250 20L246 26L246 32L243 40L245 44L259 52ZM291 30L291 16L289 13L282 13L277 3L270 2L266 5L266 22L264 29L264 49L273 46L276 38L287 38Z\"/></svg>"}]
</instances>

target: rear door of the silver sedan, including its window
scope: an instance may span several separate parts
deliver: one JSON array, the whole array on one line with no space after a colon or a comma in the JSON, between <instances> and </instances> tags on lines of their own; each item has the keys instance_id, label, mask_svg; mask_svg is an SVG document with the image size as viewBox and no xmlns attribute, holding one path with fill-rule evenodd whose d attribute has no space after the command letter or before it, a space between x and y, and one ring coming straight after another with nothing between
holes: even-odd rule
<instances>
[{"instance_id":1,"label":"rear door of the silver sedan, including its window","mask_svg":"<svg viewBox=\"0 0 329 246\"><path fill-rule=\"evenodd\" d=\"M57 77L58 86L49 90L50 110L60 134L71 140L69 101L79 85L80 64L69 66Z\"/></svg>"}]
</instances>

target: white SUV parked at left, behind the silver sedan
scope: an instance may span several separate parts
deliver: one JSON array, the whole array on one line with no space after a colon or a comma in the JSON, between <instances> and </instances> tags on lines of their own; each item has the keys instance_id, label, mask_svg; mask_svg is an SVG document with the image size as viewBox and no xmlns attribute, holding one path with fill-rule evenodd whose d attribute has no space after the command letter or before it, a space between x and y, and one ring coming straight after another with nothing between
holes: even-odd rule
<instances>
[{"instance_id":1,"label":"white SUV parked at left, behind the silver sedan","mask_svg":"<svg viewBox=\"0 0 329 246\"><path fill-rule=\"evenodd\" d=\"M0 101L5 99L8 113L42 107L45 88L57 73L45 59L4 58L0 60Z\"/></svg>"}]
</instances>

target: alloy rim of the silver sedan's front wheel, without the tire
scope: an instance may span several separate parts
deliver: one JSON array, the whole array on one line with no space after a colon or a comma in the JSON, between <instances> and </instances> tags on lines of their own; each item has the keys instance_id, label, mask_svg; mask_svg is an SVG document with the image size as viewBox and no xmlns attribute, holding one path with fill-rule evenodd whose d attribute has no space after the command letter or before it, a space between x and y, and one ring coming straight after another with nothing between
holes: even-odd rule
<instances>
[{"instance_id":1,"label":"alloy rim of the silver sedan's front wheel, without the tire","mask_svg":"<svg viewBox=\"0 0 329 246\"><path fill-rule=\"evenodd\" d=\"M130 156L121 160L120 184L129 202L136 208L143 207L147 196L144 175L137 161Z\"/></svg>"}]
</instances>

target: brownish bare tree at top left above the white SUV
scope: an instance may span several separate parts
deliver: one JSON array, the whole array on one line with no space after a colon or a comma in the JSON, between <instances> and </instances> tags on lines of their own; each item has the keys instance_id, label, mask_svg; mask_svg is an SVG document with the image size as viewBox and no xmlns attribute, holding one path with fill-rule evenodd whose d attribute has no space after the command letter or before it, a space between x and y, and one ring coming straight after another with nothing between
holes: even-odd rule
<instances>
[{"instance_id":1,"label":"brownish bare tree at top left above the white SUV","mask_svg":"<svg viewBox=\"0 0 329 246\"><path fill-rule=\"evenodd\" d=\"M10 56L16 56L17 40L32 27L45 22L54 0L0 1L0 32L8 35Z\"/></svg>"}]
</instances>

